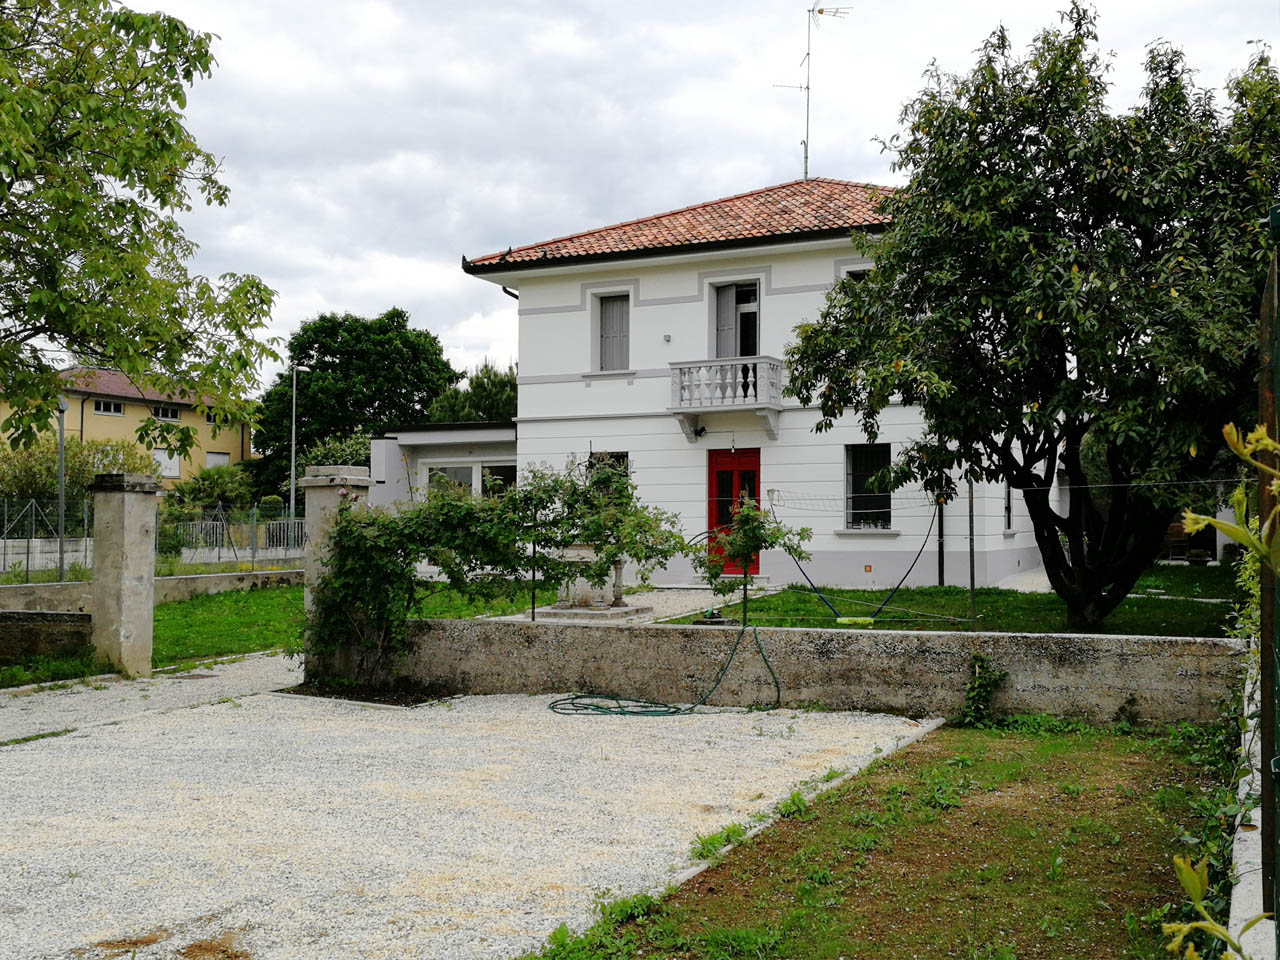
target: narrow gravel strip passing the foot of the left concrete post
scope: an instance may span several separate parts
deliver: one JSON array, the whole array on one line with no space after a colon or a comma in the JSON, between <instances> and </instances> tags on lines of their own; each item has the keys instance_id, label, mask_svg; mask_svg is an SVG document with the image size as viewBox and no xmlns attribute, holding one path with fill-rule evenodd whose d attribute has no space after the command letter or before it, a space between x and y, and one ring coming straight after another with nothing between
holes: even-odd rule
<instances>
[{"instance_id":1,"label":"narrow gravel strip passing the foot of the left concrete post","mask_svg":"<svg viewBox=\"0 0 1280 960\"><path fill-rule=\"evenodd\" d=\"M142 713L198 707L225 696L279 690L301 682L301 660L266 655L202 664L188 673L157 673L151 680L113 676L58 689L0 690L0 742L118 723Z\"/></svg>"}]
</instances>

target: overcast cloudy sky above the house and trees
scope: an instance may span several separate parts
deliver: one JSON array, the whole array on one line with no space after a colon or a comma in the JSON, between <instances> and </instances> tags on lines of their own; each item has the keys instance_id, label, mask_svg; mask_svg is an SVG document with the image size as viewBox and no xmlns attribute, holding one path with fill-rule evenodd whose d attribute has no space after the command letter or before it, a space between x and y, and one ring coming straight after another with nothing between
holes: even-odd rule
<instances>
[{"instance_id":1,"label":"overcast cloudy sky above the house and trees","mask_svg":"<svg viewBox=\"0 0 1280 960\"><path fill-rule=\"evenodd\" d=\"M1004 23L1015 45L1066 0L861 0L813 35L810 173L892 183L874 142L932 59L964 70ZM140 6L147 6L140 3ZM321 311L410 311L456 366L516 360L515 302L460 259L801 174L806 5L781 0L160 0L218 35L188 104L225 159L198 207L197 269L253 273L271 334ZM1183 47L1221 87L1275 42L1276 0L1098 0L1111 99L1146 46ZM278 367L276 367L278 369ZM266 378L276 369L269 369Z\"/></svg>"}]
</instances>

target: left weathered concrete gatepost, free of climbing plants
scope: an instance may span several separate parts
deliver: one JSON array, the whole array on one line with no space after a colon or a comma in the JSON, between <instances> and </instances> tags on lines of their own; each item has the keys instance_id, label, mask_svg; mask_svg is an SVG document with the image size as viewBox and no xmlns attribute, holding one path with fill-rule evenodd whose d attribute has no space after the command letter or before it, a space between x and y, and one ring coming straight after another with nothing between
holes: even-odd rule
<instances>
[{"instance_id":1,"label":"left weathered concrete gatepost, free of climbing plants","mask_svg":"<svg viewBox=\"0 0 1280 960\"><path fill-rule=\"evenodd\" d=\"M93 652L131 677L151 676L156 492L146 474L99 474L93 494Z\"/></svg>"}]
</instances>

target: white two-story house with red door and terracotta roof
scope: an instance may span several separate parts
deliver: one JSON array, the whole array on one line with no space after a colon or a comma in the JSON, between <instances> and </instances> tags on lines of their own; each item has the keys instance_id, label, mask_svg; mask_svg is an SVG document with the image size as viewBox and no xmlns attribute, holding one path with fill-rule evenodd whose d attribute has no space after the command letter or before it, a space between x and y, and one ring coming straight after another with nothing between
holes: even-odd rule
<instances>
[{"instance_id":1,"label":"white two-story house with red door and terracotta roof","mask_svg":"<svg viewBox=\"0 0 1280 960\"><path fill-rule=\"evenodd\" d=\"M920 489L867 485L918 434L919 415L891 408L869 443L852 417L814 433L817 413L783 396L796 325L818 316L836 280L870 266L850 233L882 225L876 191L795 180L463 259L495 294L518 297L518 416L454 436L389 433L375 442L374 502L407 499L415 483L421 495L433 475L480 489L499 463L609 456L686 535L727 522L744 493L810 527L805 570L818 584L892 585L913 562L909 584L968 584L968 495L940 509ZM1021 497L980 485L973 515L979 585L1039 566ZM800 579L786 554L763 556L759 572ZM664 579L689 577L673 566Z\"/></svg>"}]
</instances>

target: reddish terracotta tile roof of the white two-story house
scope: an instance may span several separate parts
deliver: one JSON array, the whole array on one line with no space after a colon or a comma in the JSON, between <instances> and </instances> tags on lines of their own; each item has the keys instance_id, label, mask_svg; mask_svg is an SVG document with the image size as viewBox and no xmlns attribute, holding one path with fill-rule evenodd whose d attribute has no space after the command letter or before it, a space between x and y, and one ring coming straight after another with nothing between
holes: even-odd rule
<instances>
[{"instance_id":1,"label":"reddish terracotta tile roof of the white two-story house","mask_svg":"<svg viewBox=\"0 0 1280 960\"><path fill-rule=\"evenodd\" d=\"M467 273L497 273L575 260L622 259L641 252L731 247L840 234L886 223L878 197L890 187L814 178L764 187L668 214L530 243L504 253L462 259Z\"/></svg>"}]
</instances>

